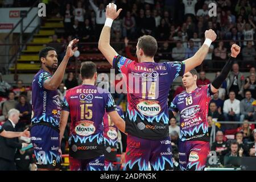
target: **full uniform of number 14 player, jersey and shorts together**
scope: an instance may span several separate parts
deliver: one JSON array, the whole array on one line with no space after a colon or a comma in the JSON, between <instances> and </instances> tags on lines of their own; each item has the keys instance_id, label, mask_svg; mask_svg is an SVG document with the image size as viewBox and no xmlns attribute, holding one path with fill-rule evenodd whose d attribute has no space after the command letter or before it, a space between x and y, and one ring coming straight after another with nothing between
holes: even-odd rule
<instances>
[{"instance_id":1,"label":"full uniform of number 14 player, jersey and shorts together","mask_svg":"<svg viewBox=\"0 0 256 182\"><path fill-rule=\"evenodd\" d=\"M181 62L136 63L117 55L113 60L127 88L125 170L172 170L167 97L172 82L183 76ZM129 77L130 76L130 77Z\"/></svg>"}]
</instances>

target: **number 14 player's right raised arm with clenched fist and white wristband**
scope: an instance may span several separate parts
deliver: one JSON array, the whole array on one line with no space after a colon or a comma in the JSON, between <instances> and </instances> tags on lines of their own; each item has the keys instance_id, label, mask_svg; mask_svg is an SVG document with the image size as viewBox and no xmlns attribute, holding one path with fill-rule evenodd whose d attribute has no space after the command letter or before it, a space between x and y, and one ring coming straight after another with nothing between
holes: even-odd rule
<instances>
[{"instance_id":1,"label":"number 14 player's right raised arm with clenched fist and white wristband","mask_svg":"<svg viewBox=\"0 0 256 182\"><path fill-rule=\"evenodd\" d=\"M191 71L191 69L197 67L204 61L205 56L209 51L210 44L217 37L217 35L212 29L205 31L204 35L205 35L205 42L203 46L200 47L200 49L195 53L195 55L183 61L183 63L185 64L185 73L187 73L188 71Z\"/></svg>"}]
</instances>

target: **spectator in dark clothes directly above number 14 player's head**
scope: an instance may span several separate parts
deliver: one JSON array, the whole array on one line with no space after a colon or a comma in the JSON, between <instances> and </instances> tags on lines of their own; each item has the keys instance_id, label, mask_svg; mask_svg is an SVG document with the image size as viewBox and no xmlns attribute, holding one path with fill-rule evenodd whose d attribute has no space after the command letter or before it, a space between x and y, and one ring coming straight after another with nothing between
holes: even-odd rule
<instances>
[{"instance_id":1,"label":"spectator in dark clothes directly above number 14 player's head","mask_svg":"<svg viewBox=\"0 0 256 182\"><path fill-rule=\"evenodd\" d=\"M150 10L146 10L146 14L142 22L142 34L155 36L155 28L155 18L151 16Z\"/></svg>"}]
</instances>

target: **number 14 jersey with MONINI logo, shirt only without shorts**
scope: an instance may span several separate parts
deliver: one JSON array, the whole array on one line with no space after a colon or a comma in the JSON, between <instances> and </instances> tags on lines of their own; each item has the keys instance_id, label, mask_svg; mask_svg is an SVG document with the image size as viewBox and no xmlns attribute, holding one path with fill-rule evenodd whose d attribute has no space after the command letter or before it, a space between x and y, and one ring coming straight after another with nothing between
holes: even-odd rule
<instances>
[{"instance_id":1,"label":"number 14 jersey with MONINI logo, shirt only without shorts","mask_svg":"<svg viewBox=\"0 0 256 182\"><path fill-rule=\"evenodd\" d=\"M172 82L183 75L183 63L136 63L115 56L113 65L127 86L126 132L146 139L167 137L167 97Z\"/></svg>"}]
</instances>

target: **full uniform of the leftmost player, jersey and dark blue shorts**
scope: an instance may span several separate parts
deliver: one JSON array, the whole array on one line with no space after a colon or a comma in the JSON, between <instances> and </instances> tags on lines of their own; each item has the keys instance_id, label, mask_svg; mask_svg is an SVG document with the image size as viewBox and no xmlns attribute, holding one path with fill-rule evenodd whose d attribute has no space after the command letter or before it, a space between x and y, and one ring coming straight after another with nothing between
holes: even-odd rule
<instances>
[{"instance_id":1,"label":"full uniform of the leftmost player, jersey and dark blue shorts","mask_svg":"<svg viewBox=\"0 0 256 182\"><path fill-rule=\"evenodd\" d=\"M61 105L57 90L44 88L52 75L40 69L32 82L31 141L38 168L60 168L59 121Z\"/></svg>"}]
</instances>

